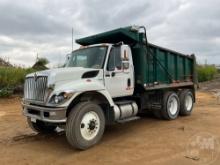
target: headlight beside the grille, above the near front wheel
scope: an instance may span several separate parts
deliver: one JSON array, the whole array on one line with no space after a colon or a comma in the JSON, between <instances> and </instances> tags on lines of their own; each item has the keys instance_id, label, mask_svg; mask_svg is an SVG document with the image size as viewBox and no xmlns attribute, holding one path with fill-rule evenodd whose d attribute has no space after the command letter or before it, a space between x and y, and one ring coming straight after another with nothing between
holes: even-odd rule
<instances>
[{"instance_id":1,"label":"headlight beside the grille, above the near front wheel","mask_svg":"<svg viewBox=\"0 0 220 165\"><path fill-rule=\"evenodd\" d=\"M49 101L51 104L60 104L64 103L68 99L70 99L73 95L73 92L61 92L58 95L53 95Z\"/></svg>"}]
</instances>

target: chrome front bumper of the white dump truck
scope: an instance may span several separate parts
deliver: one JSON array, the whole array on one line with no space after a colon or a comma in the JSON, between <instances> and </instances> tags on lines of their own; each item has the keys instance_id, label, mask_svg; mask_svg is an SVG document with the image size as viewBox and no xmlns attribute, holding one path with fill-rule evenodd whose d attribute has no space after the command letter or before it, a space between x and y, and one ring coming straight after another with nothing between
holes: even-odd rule
<instances>
[{"instance_id":1,"label":"chrome front bumper of the white dump truck","mask_svg":"<svg viewBox=\"0 0 220 165\"><path fill-rule=\"evenodd\" d=\"M49 123L65 123L67 107L43 107L22 103L23 114L26 117Z\"/></svg>"}]
</instances>

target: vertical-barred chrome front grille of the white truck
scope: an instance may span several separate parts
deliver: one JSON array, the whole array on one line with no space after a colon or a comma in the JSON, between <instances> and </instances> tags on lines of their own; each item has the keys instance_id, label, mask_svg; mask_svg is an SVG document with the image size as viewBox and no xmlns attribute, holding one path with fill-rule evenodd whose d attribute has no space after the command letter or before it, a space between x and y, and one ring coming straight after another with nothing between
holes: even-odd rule
<instances>
[{"instance_id":1,"label":"vertical-barred chrome front grille of the white truck","mask_svg":"<svg viewBox=\"0 0 220 165\"><path fill-rule=\"evenodd\" d=\"M24 84L24 98L43 102L47 89L47 76L27 77Z\"/></svg>"}]
</instances>

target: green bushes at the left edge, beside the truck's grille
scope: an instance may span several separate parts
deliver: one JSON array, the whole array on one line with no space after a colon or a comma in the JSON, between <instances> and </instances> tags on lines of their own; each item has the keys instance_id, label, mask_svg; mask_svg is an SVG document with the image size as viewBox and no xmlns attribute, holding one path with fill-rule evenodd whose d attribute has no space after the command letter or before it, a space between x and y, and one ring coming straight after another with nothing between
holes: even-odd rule
<instances>
[{"instance_id":1,"label":"green bushes at the left edge, beside the truck's grille","mask_svg":"<svg viewBox=\"0 0 220 165\"><path fill-rule=\"evenodd\" d=\"M0 67L0 97L11 95L16 86L24 83L25 76L34 71L32 68Z\"/></svg>"}]
</instances>

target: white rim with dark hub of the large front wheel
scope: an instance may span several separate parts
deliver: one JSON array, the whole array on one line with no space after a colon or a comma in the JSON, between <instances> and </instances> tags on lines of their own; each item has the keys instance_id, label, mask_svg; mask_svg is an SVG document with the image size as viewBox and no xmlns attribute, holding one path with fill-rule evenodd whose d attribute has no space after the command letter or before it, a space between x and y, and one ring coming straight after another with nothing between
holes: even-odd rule
<instances>
[{"instance_id":1,"label":"white rim with dark hub of the large front wheel","mask_svg":"<svg viewBox=\"0 0 220 165\"><path fill-rule=\"evenodd\" d=\"M80 124L80 132L85 140L92 140L96 137L100 129L100 118L94 111L84 114Z\"/></svg>"}]
</instances>

